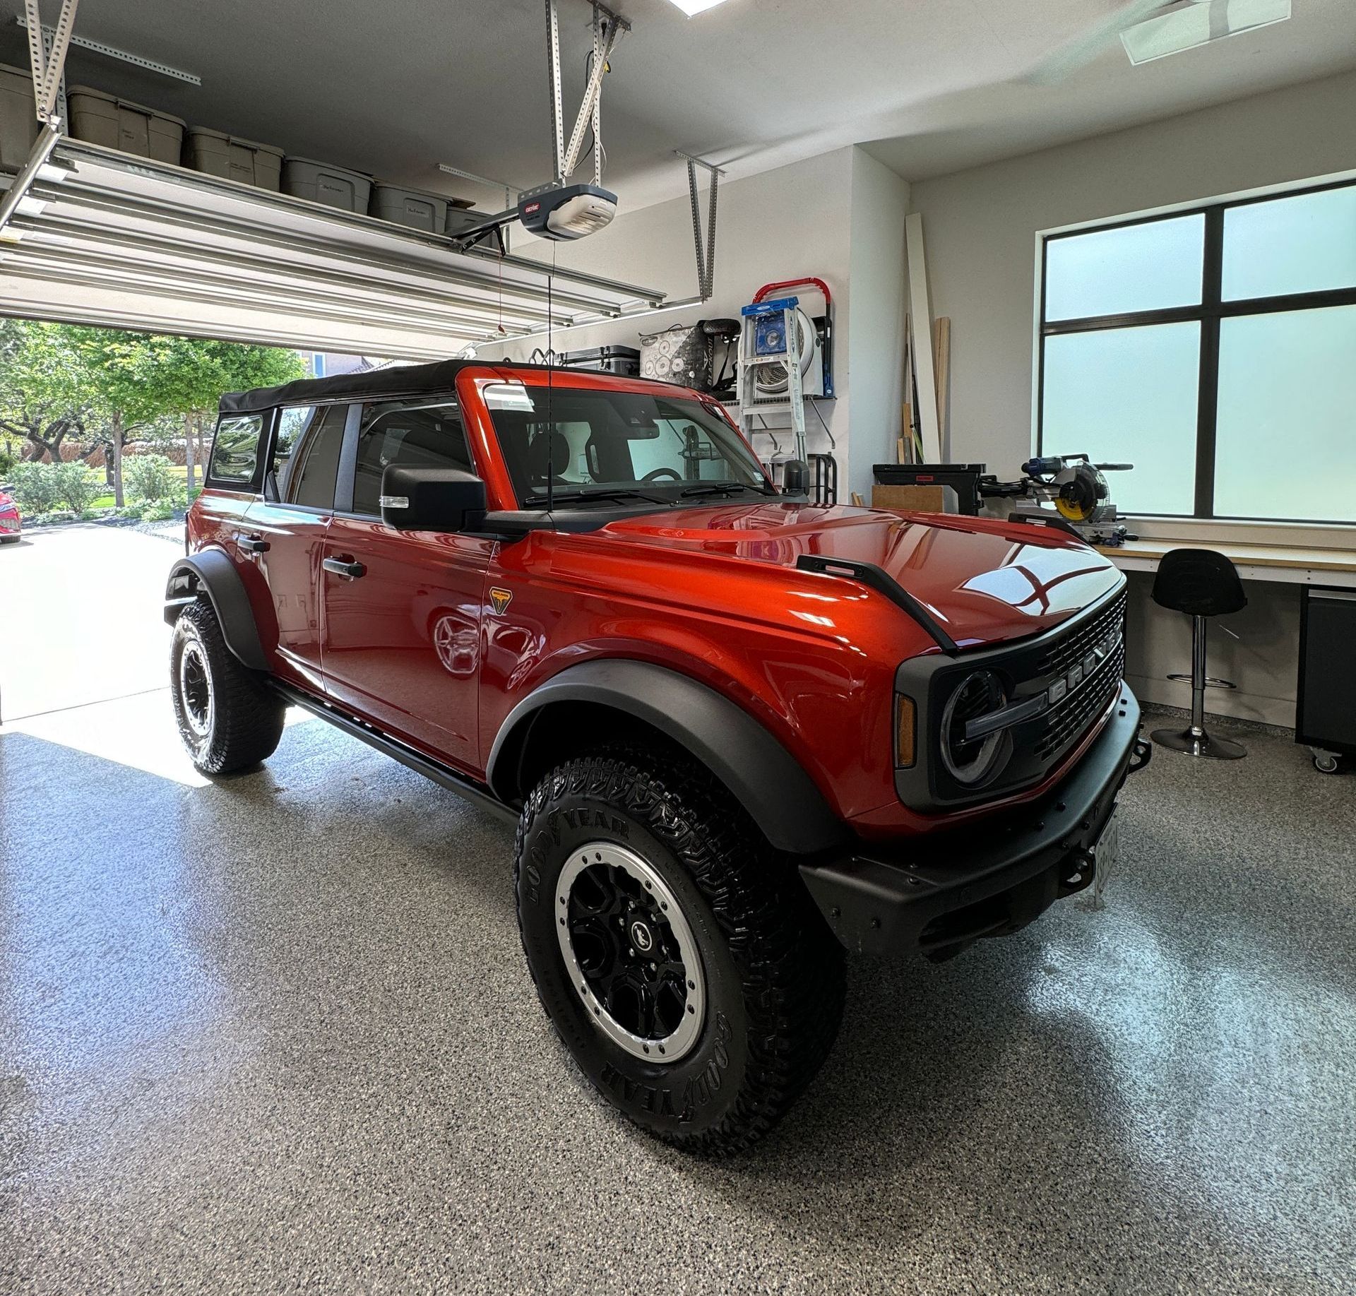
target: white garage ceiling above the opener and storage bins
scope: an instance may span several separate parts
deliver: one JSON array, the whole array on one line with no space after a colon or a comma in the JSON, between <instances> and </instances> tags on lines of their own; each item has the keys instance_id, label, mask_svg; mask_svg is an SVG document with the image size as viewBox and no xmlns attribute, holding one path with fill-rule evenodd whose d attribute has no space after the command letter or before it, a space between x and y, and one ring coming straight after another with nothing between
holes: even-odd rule
<instances>
[{"instance_id":1,"label":"white garage ceiling above the opener and storage bins","mask_svg":"<svg viewBox=\"0 0 1356 1296\"><path fill-rule=\"evenodd\" d=\"M635 209L685 191L675 148L740 175L858 142L919 179L1356 66L1356 3L1294 0L1287 23L1159 62L1131 68L1116 45L1058 87L1025 80L1116 7L728 0L687 19L669 0L617 0L635 30L605 83L606 180ZM0 0L11 64L27 61L20 8ZM590 8L560 8L572 115ZM435 164L549 179L541 0L81 0L76 31L199 75L194 88L79 50L69 64L72 81L194 125L481 206L496 195Z\"/></svg>"}]
</instances>

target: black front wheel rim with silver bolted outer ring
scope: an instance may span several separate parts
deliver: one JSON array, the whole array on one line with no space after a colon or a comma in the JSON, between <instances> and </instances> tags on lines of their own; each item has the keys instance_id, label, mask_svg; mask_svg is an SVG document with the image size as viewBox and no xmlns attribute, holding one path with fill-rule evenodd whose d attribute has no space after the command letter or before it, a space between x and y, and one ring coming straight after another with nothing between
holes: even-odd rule
<instances>
[{"instance_id":1,"label":"black front wheel rim with silver bolted outer ring","mask_svg":"<svg viewBox=\"0 0 1356 1296\"><path fill-rule=\"evenodd\" d=\"M706 1017L697 939L677 895L616 842L575 847L556 881L556 938L598 1029L651 1063L692 1052Z\"/></svg>"}]
</instances>

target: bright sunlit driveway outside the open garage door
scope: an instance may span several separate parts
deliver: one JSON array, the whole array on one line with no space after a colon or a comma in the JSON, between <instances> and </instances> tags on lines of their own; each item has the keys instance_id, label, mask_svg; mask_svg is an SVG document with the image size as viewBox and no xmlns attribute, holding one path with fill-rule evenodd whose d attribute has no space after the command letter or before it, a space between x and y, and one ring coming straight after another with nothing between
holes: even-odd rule
<instances>
[{"instance_id":1,"label":"bright sunlit driveway outside the open garage door","mask_svg":"<svg viewBox=\"0 0 1356 1296\"><path fill-rule=\"evenodd\" d=\"M182 537L72 526L0 546L0 721L167 687L161 601Z\"/></svg>"}]
</instances>

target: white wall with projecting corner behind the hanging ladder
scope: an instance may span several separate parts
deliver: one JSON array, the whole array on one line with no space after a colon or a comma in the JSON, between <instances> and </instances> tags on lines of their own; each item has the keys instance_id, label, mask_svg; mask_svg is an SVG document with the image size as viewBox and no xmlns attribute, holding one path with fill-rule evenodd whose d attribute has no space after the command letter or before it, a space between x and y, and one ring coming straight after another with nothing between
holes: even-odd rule
<instances>
[{"instance_id":1,"label":"white wall with projecting corner behind the hanging ladder","mask_svg":"<svg viewBox=\"0 0 1356 1296\"><path fill-rule=\"evenodd\" d=\"M706 190L700 188L702 221ZM838 399L820 412L837 441L839 498L849 489L869 495L871 464L898 435L902 355L903 221L909 186L856 148L835 149L789 167L734 180L720 187L716 224L716 274L711 300L701 306L640 320L556 331L553 346L582 350L607 343L637 346L641 332L692 324L713 316L739 316L763 283L815 275L834 296L834 380ZM639 211L622 211L606 230L578 243L555 244L556 263L660 289L671 298L697 293L692 207L686 198ZM551 247L517 236L514 252L549 260ZM818 301L807 293L807 304ZM814 313L814 312L812 312ZM862 351L856 338L862 338ZM526 359L545 338L491 344L479 354ZM865 412L858 419L857 411ZM819 420L807 411L811 453L831 449ZM769 422L773 422L769 419ZM849 437L849 426L852 437ZM860 435L858 435L860 431ZM856 442L860 441L860 449ZM773 450L765 435L754 438L761 454ZM792 442L777 432L782 454ZM849 451L849 446L854 449ZM849 465L849 453L852 464ZM850 483L850 484L849 484Z\"/></svg>"}]
</instances>

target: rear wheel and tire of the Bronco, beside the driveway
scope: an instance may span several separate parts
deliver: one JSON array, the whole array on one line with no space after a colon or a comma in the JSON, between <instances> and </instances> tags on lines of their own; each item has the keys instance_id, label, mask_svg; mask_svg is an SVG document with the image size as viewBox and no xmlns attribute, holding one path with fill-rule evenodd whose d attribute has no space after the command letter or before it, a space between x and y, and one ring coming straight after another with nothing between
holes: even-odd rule
<instances>
[{"instance_id":1,"label":"rear wheel and tire of the Bronco, beside the driveway","mask_svg":"<svg viewBox=\"0 0 1356 1296\"><path fill-rule=\"evenodd\" d=\"M248 769L277 750L286 706L231 652L206 603L190 603L175 621L170 694L179 736L203 774Z\"/></svg>"}]
</instances>

